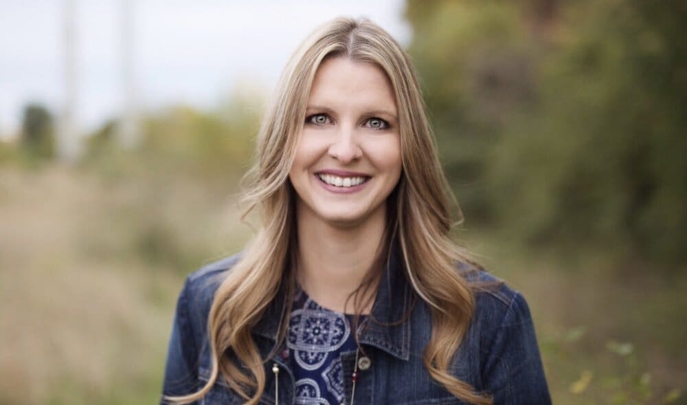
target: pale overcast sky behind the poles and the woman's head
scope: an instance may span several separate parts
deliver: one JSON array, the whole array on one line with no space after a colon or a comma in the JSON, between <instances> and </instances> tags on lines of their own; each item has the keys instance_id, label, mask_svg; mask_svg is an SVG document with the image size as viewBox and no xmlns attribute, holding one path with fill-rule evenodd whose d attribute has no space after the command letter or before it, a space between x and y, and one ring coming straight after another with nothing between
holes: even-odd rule
<instances>
[{"instance_id":1,"label":"pale overcast sky behind the poles and the woman's head","mask_svg":"<svg viewBox=\"0 0 687 405\"><path fill-rule=\"evenodd\" d=\"M76 0L82 131L122 110L122 0ZM412 34L403 0L132 0L137 94L146 109L210 108L237 83L270 91L295 47L340 15L369 17L402 44ZM63 105L63 0L0 0L0 136L16 132L28 102Z\"/></svg>"}]
</instances>

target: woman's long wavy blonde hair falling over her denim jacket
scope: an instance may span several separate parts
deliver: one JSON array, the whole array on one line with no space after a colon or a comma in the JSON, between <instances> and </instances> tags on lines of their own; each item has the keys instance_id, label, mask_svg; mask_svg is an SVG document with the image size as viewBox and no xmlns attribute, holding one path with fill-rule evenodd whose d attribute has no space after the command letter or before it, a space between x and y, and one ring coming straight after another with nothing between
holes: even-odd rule
<instances>
[{"instance_id":1,"label":"woman's long wavy blonde hair falling over her denim jacket","mask_svg":"<svg viewBox=\"0 0 687 405\"><path fill-rule=\"evenodd\" d=\"M451 239L452 207L460 208L444 177L412 63L401 46L378 25L339 18L315 30L286 65L258 133L254 166L247 173L244 217L260 213L256 236L240 261L219 285L208 333L212 372L196 393L168 399L187 403L200 399L218 377L257 404L265 388L265 364L251 337L281 288L293 286L297 237L295 191L289 182L298 134L315 72L325 58L343 57L374 63L387 75L396 97L403 170L387 200L387 232L383 245L395 238L405 276L416 296L431 308L431 339L424 363L434 380L451 394L473 404L491 404L488 395L453 377L449 371L475 309L473 287L456 270L469 254ZM455 204L452 204L455 203ZM458 221L460 222L460 221ZM381 254L380 254L381 256ZM293 288L286 288L293 292ZM287 294L284 305L291 300ZM356 300L358 304L358 300ZM361 305L354 305L357 313ZM279 347L288 316L282 316Z\"/></svg>"}]
</instances>

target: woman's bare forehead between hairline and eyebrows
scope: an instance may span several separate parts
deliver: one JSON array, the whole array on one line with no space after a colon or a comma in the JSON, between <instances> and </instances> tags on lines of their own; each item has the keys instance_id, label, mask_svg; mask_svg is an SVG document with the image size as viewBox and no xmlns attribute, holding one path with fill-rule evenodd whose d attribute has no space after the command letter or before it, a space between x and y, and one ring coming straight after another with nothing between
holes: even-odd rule
<instances>
[{"instance_id":1,"label":"woman's bare forehead between hairline and eyebrows","mask_svg":"<svg viewBox=\"0 0 687 405\"><path fill-rule=\"evenodd\" d=\"M341 56L317 68L308 97L308 105L315 104L396 111L394 89L381 67Z\"/></svg>"}]
</instances>

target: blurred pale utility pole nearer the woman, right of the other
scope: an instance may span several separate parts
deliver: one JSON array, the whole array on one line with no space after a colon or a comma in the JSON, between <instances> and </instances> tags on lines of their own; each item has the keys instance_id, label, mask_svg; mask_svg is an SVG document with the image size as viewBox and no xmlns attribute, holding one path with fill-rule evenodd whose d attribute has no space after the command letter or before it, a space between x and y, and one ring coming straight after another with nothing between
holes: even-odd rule
<instances>
[{"instance_id":1,"label":"blurred pale utility pole nearer the woman, right of the other","mask_svg":"<svg viewBox=\"0 0 687 405\"><path fill-rule=\"evenodd\" d=\"M117 141L124 149L134 149L140 138L134 69L133 7L131 0L121 0L122 118L117 127Z\"/></svg>"}]
</instances>

